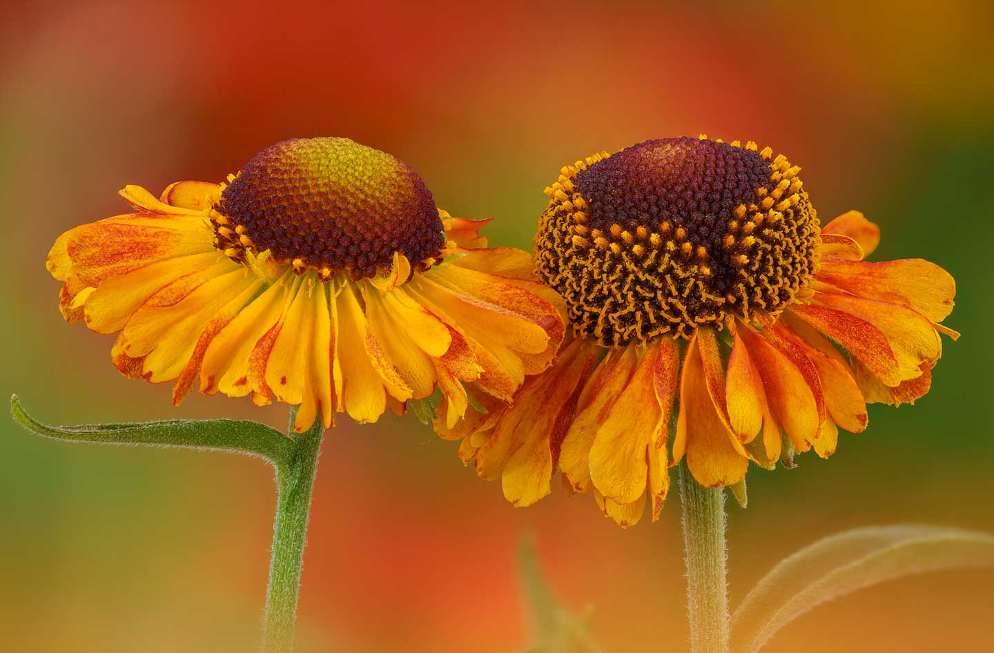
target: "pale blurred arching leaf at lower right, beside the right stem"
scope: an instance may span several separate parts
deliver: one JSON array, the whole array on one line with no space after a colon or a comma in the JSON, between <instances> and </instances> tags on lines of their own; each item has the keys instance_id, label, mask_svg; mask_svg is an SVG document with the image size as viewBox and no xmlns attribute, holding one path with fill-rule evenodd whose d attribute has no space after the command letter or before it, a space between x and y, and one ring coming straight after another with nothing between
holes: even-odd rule
<instances>
[{"instance_id":1,"label":"pale blurred arching leaf at lower right, beside the right stem","mask_svg":"<svg viewBox=\"0 0 994 653\"><path fill-rule=\"evenodd\" d=\"M994 566L994 536L934 526L882 526L829 536L762 577L733 615L732 650L753 653L816 605L925 571Z\"/></svg>"}]
</instances>

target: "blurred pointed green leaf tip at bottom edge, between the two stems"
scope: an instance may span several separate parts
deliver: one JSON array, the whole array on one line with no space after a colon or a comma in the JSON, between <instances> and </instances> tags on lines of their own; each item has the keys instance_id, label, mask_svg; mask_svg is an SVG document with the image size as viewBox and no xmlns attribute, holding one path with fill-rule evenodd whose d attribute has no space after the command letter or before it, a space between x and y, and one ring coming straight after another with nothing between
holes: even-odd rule
<instances>
[{"instance_id":1,"label":"blurred pointed green leaf tip at bottom edge, between the two stems","mask_svg":"<svg viewBox=\"0 0 994 653\"><path fill-rule=\"evenodd\" d=\"M588 632L590 610L578 616L560 604L530 537L523 538L518 548L518 576L534 640L525 653L599 653Z\"/></svg>"}]
</instances>

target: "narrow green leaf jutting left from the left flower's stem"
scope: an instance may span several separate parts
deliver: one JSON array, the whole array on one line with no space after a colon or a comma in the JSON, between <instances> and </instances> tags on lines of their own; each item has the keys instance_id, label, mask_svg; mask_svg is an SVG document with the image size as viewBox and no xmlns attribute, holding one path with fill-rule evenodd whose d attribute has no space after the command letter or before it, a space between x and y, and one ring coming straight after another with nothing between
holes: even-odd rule
<instances>
[{"instance_id":1,"label":"narrow green leaf jutting left from the left flower's stem","mask_svg":"<svg viewBox=\"0 0 994 653\"><path fill-rule=\"evenodd\" d=\"M14 421L42 437L67 442L126 444L168 448L228 451L258 456L274 465L284 465L293 451L293 440L275 428L257 421L234 419L169 419L126 423L52 426L38 421L10 398Z\"/></svg>"}]
</instances>

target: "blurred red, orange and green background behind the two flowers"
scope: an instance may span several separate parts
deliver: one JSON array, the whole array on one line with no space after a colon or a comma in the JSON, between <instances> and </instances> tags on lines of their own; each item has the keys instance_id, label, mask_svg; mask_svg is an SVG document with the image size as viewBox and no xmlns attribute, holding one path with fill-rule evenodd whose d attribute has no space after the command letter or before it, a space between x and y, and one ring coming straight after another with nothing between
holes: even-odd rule
<instances>
[{"instance_id":1,"label":"blurred red, orange and green background behind the two flowers","mask_svg":"<svg viewBox=\"0 0 994 653\"><path fill-rule=\"evenodd\" d=\"M813 4L813 3L812 3ZM282 408L125 380L111 337L66 325L44 258L63 231L222 180L291 136L406 160L455 215L528 247L559 168L646 138L754 139L804 168L823 218L881 224L878 259L924 256L959 287L931 393L873 407L828 462L748 476L731 591L835 531L994 532L990 320L994 76L988 3L356 5L5 3L0 9L0 396L53 422ZM253 650L271 471L218 454L87 447L0 420L0 649ZM514 550L534 533L608 653L686 650L679 505L621 531L586 497L514 509L414 415L329 434L299 651L513 653L528 644ZM890 582L817 608L767 649L990 650L994 572Z\"/></svg>"}]
</instances>

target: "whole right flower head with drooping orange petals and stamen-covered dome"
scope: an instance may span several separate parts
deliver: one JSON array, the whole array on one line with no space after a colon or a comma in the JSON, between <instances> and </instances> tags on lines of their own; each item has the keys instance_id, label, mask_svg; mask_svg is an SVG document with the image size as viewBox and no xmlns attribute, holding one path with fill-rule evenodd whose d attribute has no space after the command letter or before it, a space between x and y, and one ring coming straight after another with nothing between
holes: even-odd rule
<instances>
[{"instance_id":1,"label":"whole right flower head with drooping orange petals and stamen-covered dome","mask_svg":"<svg viewBox=\"0 0 994 653\"><path fill-rule=\"evenodd\" d=\"M536 273L573 325L512 408L480 398L445 437L527 506L557 468L622 526L686 456L704 486L748 462L827 457L867 403L924 395L955 284L921 259L863 260L876 225L820 227L799 168L755 143L651 140L563 168L535 237ZM672 455L668 451L671 430Z\"/></svg>"}]
</instances>

